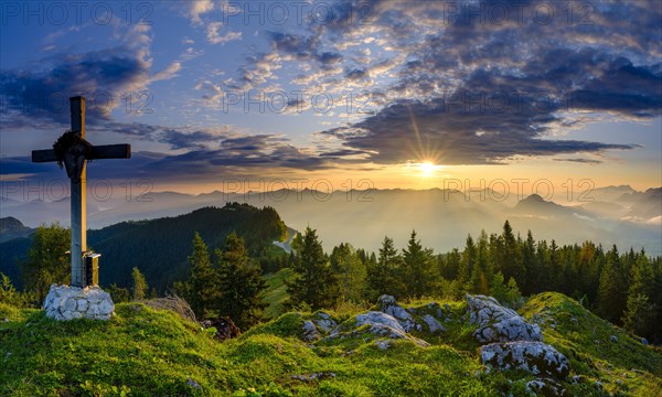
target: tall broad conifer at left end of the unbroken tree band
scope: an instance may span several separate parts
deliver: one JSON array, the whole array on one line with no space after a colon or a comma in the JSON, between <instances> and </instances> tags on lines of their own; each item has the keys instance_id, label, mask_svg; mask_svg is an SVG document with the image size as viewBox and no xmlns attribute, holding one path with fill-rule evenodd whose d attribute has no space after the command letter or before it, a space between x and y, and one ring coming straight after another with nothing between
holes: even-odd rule
<instances>
[{"instance_id":1,"label":"tall broad conifer at left end of the unbroken tree band","mask_svg":"<svg viewBox=\"0 0 662 397\"><path fill-rule=\"evenodd\" d=\"M340 288L324 256L322 244L318 240L317 232L307 227L298 245L297 260L292 267L295 277L286 281L290 296L288 304L307 304L312 310L333 307L338 301Z\"/></svg>"}]
</instances>

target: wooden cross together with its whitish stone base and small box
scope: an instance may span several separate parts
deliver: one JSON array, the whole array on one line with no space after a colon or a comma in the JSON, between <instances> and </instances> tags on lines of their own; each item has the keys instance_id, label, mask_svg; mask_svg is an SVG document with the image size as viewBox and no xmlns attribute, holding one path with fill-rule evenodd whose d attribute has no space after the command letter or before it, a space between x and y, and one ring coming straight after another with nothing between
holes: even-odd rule
<instances>
[{"instance_id":1,"label":"wooden cross together with its whitish stone base and small box","mask_svg":"<svg viewBox=\"0 0 662 397\"><path fill-rule=\"evenodd\" d=\"M86 297L92 293L93 302L99 300L108 300L110 305L113 301L110 296L103 292L96 286L98 283L98 260L100 255L93 254L87 250L87 198L85 195L87 183L87 161L100 159L129 159L131 157L131 147L129 144L105 144L93 146L85 140L85 98L77 96L70 98L72 128L57 139L53 149L33 150L33 162L53 162L56 161L61 167L64 164L66 174L71 180L71 229L72 229L72 246L71 246L71 265L72 265L72 286L51 287L51 292L44 302L46 314L62 312L64 305L76 311L78 304L81 309L77 312L87 312ZM96 287L95 287L96 286ZM90 287L90 288L87 288ZM54 289L55 288L55 289ZM52 293L60 297L58 289L66 289L66 292L72 297L67 299L54 299ZM99 293L100 291L100 293ZM81 293L81 296L78 296ZM107 297L106 297L107 296ZM61 298L61 297L60 297ZM66 303L68 302L68 303ZM57 304L57 308L54 307ZM104 310L108 304L104 305ZM51 310L54 309L54 310ZM98 311L98 310L92 310ZM104 315L84 315L88 318L104 318ZM107 313L106 313L107 314ZM55 315L53 315L55 316ZM57 318L57 316L55 316ZM75 315L74 315L75 318ZM70 320L70 319L61 319Z\"/></svg>"}]
</instances>

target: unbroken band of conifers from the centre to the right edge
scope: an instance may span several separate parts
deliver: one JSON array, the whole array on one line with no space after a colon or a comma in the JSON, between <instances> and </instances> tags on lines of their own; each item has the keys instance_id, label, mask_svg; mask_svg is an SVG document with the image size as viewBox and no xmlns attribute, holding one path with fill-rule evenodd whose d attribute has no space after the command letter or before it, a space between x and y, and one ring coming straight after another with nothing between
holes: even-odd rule
<instances>
[{"instance_id":1,"label":"unbroken band of conifers from the centre to the right edge","mask_svg":"<svg viewBox=\"0 0 662 397\"><path fill-rule=\"evenodd\" d=\"M484 230L467 237L463 249L435 255L412 232L402 250L384 237L377 255L343 243L330 255L316 230L307 228L288 282L290 305L312 310L341 301L374 301L382 293L397 299L490 294L516 308L523 296L557 291L628 331L661 343L662 258L642 249L619 253L616 246L585 242L558 246L555 240L515 236L506 221L500 234Z\"/></svg>"}]
</instances>

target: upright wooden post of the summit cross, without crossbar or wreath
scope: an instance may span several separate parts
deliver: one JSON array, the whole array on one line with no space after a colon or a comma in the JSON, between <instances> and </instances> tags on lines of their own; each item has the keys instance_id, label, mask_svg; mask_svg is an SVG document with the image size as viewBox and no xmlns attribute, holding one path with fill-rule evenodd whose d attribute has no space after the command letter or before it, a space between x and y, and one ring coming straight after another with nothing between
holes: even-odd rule
<instances>
[{"instance_id":1,"label":"upright wooden post of the summit cross, without crossbar or wreath","mask_svg":"<svg viewBox=\"0 0 662 397\"><path fill-rule=\"evenodd\" d=\"M85 98L77 96L70 98L72 112L72 131L79 131L85 139ZM81 178L71 179L71 216L72 216L72 286L84 287L85 272L83 271L83 253L87 250L87 161L83 161Z\"/></svg>"}]
</instances>

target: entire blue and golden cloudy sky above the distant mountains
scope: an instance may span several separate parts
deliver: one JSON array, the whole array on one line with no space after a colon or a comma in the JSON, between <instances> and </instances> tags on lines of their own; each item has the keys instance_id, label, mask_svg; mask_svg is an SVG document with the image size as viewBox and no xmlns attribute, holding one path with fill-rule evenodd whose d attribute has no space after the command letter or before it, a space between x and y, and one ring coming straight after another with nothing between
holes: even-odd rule
<instances>
[{"instance_id":1,"label":"entire blue and golden cloudy sky above the distant mountains","mask_svg":"<svg viewBox=\"0 0 662 397\"><path fill-rule=\"evenodd\" d=\"M2 183L64 178L29 154L84 95L87 139L134 152L88 178L156 190L662 184L656 0L1 7Z\"/></svg>"}]
</instances>

